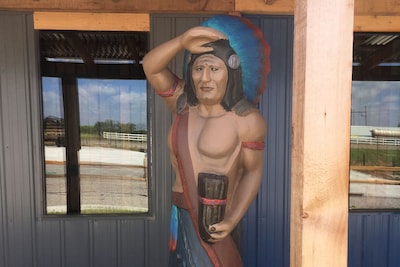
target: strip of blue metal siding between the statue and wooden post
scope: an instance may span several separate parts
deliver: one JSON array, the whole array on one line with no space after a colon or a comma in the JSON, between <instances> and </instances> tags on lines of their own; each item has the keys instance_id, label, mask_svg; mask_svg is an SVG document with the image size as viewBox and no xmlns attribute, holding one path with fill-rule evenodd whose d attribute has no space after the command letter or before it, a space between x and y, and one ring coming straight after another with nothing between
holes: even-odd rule
<instances>
[{"instance_id":1,"label":"strip of blue metal siding between the statue and wooden post","mask_svg":"<svg viewBox=\"0 0 400 267\"><path fill-rule=\"evenodd\" d=\"M273 266L285 266L289 250L289 205L290 205L290 147L291 147L291 88L292 88L292 44L293 21L290 17L268 18L263 21L263 31L271 45L271 74L263 102L263 113L267 118L267 181L262 188L262 246L265 257L260 262L271 262ZM260 251L261 252L261 251ZM286 259L286 261L285 261Z\"/></svg>"}]
</instances>

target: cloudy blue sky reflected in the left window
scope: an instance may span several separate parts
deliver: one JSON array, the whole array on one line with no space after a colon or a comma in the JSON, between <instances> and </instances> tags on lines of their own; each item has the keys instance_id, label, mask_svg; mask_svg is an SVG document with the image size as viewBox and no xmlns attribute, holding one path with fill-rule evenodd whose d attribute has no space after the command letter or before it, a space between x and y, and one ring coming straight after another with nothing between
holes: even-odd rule
<instances>
[{"instance_id":1,"label":"cloudy blue sky reflected in the left window","mask_svg":"<svg viewBox=\"0 0 400 267\"><path fill-rule=\"evenodd\" d=\"M63 117L60 79L43 78L44 117ZM79 79L81 125L116 120L146 124L146 80Z\"/></svg>"}]
</instances>

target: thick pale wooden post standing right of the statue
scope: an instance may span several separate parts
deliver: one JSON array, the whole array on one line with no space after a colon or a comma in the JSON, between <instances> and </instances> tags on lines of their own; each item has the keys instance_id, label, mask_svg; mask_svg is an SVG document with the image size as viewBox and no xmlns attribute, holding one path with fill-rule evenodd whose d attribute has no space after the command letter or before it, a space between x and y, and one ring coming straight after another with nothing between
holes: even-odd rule
<instances>
[{"instance_id":1,"label":"thick pale wooden post standing right of the statue","mask_svg":"<svg viewBox=\"0 0 400 267\"><path fill-rule=\"evenodd\" d=\"M295 0L292 267L347 266L353 0Z\"/></svg>"}]
</instances>

